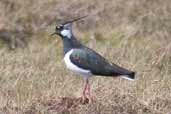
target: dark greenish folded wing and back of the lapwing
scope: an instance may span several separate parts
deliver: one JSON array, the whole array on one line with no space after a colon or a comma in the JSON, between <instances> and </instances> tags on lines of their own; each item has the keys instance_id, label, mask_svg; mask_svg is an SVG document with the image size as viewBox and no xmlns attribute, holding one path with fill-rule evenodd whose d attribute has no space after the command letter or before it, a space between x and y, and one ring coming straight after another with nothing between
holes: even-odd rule
<instances>
[{"instance_id":1,"label":"dark greenish folded wing and back of the lapwing","mask_svg":"<svg viewBox=\"0 0 171 114\"><path fill-rule=\"evenodd\" d=\"M130 71L107 61L100 54L88 47L74 49L70 58L78 67L90 70L94 75L118 76L130 74Z\"/></svg>"}]
</instances>

